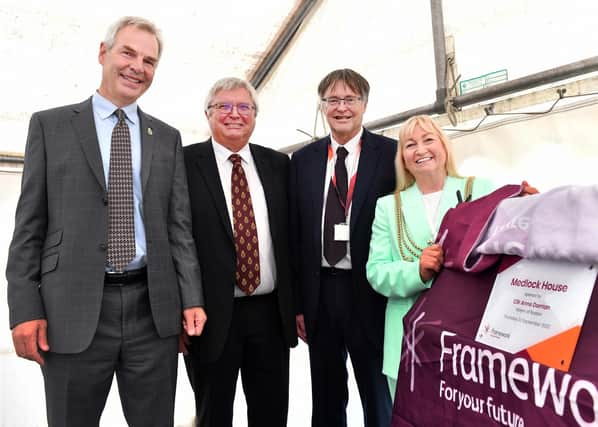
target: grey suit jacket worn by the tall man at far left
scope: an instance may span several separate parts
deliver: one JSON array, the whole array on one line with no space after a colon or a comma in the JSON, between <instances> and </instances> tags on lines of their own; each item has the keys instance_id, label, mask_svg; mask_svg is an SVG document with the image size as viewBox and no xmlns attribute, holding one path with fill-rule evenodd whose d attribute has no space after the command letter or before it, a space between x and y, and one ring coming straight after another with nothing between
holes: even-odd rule
<instances>
[{"instance_id":1,"label":"grey suit jacket worn by the tall man at far left","mask_svg":"<svg viewBox=\"0 0 598 427\"><path fill-rule=\"evenodd\" d=\"M179 132L139 110L148 288L162 337L203 305ZM151 131L150 131L151 129ZM108 199L91 99L31 117L6 277L10 327L48 320L51 351L77 353L97 328Z\"/></svg>"}]
</instances>

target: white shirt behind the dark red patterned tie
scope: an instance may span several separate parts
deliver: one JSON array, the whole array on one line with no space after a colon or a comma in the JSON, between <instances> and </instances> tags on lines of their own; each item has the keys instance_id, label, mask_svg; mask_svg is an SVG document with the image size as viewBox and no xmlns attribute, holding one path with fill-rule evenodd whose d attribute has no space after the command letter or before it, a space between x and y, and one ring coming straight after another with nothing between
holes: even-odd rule
<instances>
[{"instance_id":1,"label":"white shirt behind the dark red patterned tie","mask_svg":"<svg viewBox=\"0 0 598 427\"><path fill-rule=\"evenodd\" d=\"M225 146L221 145L212 138L212 147L214 148L214 155L216 156L216 166L218 167L218 174L220 175L220 182L222 183L222 190L224 192L224 199L226 200L226 207L228 210L228 217L231 228L233 225L233 206L231 194L231 174L233 171L233 163L229 160L231 154L235 152L230 151ZM241 156L241 164L245 171L247 178L247 185L251 194L251 204L253 205L253 213L255 216L255 225L257 227L257 239L260 252L260 285L251 295L262 295L272 292L276 283L276 264L274 261L274 249L272 247L272 236L270 235L270 223L268 221L268 206L266 204L266 196L264 194L264 187L260 181L260 177L253 161L253 156L249 149L249 144L246 144L236 154ZM247 296L238 286L235 286L235 297Z\"/></svg>"}]
</instances>

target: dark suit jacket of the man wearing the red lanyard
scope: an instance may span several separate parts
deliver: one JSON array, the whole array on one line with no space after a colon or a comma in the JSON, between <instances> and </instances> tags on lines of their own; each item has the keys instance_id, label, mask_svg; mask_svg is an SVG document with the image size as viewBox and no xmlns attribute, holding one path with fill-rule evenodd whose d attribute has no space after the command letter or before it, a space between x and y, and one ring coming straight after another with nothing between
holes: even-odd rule
<instances>
[{"instance_id":1,"label":"dark suit jacket of the man wearing the red lanyard","mask_svg":"<svg viewBox=\"0 0 598 427\"><path fill-rule=\"evenodd\" d=\"M322 210L330 137L296 151L291 158L291 245L297 314L305 317L307 338L317 328L322 266ZM368 259L372 221L378 197L395 188L397 142L363 131L350 223L353 312L376 348L384 341L386 298L369 285Z\"/></svg>"}]
</instances>

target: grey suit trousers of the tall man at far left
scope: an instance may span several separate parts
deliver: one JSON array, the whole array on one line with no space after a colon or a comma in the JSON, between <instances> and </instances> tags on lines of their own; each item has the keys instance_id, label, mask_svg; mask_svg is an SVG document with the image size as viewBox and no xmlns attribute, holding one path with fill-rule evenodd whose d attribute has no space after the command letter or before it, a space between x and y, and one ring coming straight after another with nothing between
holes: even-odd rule
<instances>
[{"instance_id":1,"label":"grey suit trousers of the tall man at far left","mask_svg":"<svg viewBox=\"0 0 598 427\"><path fill-rule=\"evenodd\" d=\"M145 281L105 285L89 347L44 355L49 427L98 426L114 374L130 426L172 426L177 346L177 336L160 338L156 332Z\"/></svg>"}]
</instances>

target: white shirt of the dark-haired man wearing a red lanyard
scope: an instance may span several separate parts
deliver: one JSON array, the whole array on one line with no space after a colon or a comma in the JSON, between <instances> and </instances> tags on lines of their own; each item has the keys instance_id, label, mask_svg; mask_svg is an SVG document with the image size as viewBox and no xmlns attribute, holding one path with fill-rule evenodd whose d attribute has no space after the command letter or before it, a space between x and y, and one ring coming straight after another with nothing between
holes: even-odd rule
<instances>
[{"instance_id":1,"label":"white shirt of the dark-haired man wearing a red lanyard","mask_svg":"<svg viewBox=\"0 0 598 427\"><path fill-rule=\"evenodd\" d=\"M360 131L357 133L357 135L355 135L353 138L351 138L347 143L345 143L343 145L343 147L345 147L345 149L347 150L348 154L347 157L345 158L345 166L347 167L347 179L349 180L349 182L347 182L347 188L349 188L349 183L351 182L351 178L353 178L353 175L355 175L357 173L357 168L359 166L359 157L361 154L361 136L363 134L363 128L360 129ZM331 267L330 264L328 264L328 261L326 261L326 258L324 257L324 216L326 215L326 199L328 198L328 188L330 187L330 181L332 179L332 175L334 174L334 165L336 163L336 149L338 147L340 147L340 144L338 142L336 142L334 140L334 137L332 136L332 134L330 134L330 141L331 141L331 146L332 146L332 151L334 153L334 155L332 156L332 159L329 159L328 162L326 163L326 181L324 182L324 204L322 205L324 207L324 209L322 209L322 226L321 226L321 239L322 239L322 267ZM351 210L353 209L353 202L351 201L351 205L349 206L349 211L347 214L347 220L346 223L347 224L351 224ZM351 241L349 240L347 242L347 255L341 259L334 267L336 268L341 268L341 269L345 269L345 270L350 270L351 269Z\"/></svg>"}]
</instances>

